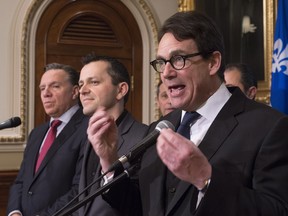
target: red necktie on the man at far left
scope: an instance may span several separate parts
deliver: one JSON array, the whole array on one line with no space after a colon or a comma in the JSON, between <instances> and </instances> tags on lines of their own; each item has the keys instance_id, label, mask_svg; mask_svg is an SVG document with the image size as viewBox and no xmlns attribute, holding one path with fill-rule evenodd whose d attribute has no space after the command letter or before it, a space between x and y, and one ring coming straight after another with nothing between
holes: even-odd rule
<instances>
[{"instance_id":1,"label":"red necktie on the man at far left","mask_svg":"<svg viewBox=\"0 0 288 216\"><path fill-rule=\"evenodd\" d=\"M47 134L47 137L43 143L42 149L39 153L38 160L36 163L36 168L35 172L37 172L38 168L40 167L40 164L42 163L46 153L48 152L49 148L51 147L52 143L54 142L54 139L57 134L57 127L61 124L62 122L60 120L54 120L51 123L49 132Z\"/></svg>"}]
</instances>

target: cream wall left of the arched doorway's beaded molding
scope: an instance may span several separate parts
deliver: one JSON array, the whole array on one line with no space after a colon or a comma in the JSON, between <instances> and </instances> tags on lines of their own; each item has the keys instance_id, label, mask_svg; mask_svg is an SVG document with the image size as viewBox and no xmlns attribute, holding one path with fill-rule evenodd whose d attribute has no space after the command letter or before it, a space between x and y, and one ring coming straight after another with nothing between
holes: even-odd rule
<instances>
[{"instance_id":1,"label":"cream wall left of the arched doorway's beaded molding","mask_svg":"<svg viewBox=\"0 0 288 216\"><path fill-rule=\"evenodd\" d=\"M31 0L1 0L0 3L0 121L23 116L21 98L24 93L21 70L22 24ZM0 131L0 170L17 169L22 160L23 125Z\"/></svg>"}]
</instances>

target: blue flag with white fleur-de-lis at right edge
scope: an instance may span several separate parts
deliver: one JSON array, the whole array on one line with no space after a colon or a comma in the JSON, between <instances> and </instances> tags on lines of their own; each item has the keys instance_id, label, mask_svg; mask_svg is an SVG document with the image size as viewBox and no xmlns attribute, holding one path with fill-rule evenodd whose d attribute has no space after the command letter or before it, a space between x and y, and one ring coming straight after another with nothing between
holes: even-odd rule
<instances>
[{"instance_id":1,"label":"blue flag with white fleur-de-lis at right edge","mask_svg":"<svg viewBox=\"0 0 288 216\"><path fill-rule=\"evenodd\" d=\"M271 105L288 114L288 0L278 0L272 56Z\"/></svg>"}]
</instances>

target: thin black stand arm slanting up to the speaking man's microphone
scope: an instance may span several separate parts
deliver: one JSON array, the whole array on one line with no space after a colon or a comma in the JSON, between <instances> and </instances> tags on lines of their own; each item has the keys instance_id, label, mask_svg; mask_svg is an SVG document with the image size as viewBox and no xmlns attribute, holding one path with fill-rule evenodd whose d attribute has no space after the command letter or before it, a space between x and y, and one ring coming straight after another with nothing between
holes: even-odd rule
<instances>
[{"instance_id":1,"label":"thin black stand arm slanting up to the speaking man's microphone","mask_svg":"<svg viewBox=\"0 0 288 216\"><path fill-rule=\"evenodd\" d=\"M101 195L103 192L109 190L113 185L115 185L118 182L120 182L120 181L122 181L122 180L124 180L126 178L129 178L130 176L132 176L134 174L134 171L136 170L136 168L138 166L139 165L137 163L132 165L132 166L130 166L128 169L124 170L120 175L118 175L115 178L113 178L113 180L111 182L108 182L107 184L105 184L102 187L98 188L94 193L86 196L84 199L82 199L81 201L79 201L75 205L71 206L67 210L63 209L62 212L56 213L53 216L68 216L68 215L70 215L71 213L73 213L74 211L76 211L77 209L79 209L80 207L85 205L87 202L89 202L92 199L94 199L95 197Z\"/></svg>"}]
</instances>

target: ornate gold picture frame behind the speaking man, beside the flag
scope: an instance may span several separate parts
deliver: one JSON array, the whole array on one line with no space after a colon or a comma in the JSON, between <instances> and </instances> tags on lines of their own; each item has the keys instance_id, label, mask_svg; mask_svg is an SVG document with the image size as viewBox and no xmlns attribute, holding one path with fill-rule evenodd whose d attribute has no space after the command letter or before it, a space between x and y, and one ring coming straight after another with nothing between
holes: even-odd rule
<instances>
[{"instance_id":1,"label":"ornate gold picture frame behind the speaking man, beside the flag","mask_svg":"<svg viewBox=\"0 0 288 216\"><path fill-rule=\"evenodd\" d=\"M276 8L277 1L263 0L264 78L262 80L258 80L258 92L256 100L265 104L270 104L271 68ZM178 10L195 10L195 0L178 0Z\"/></svg>"}]
</instances>

